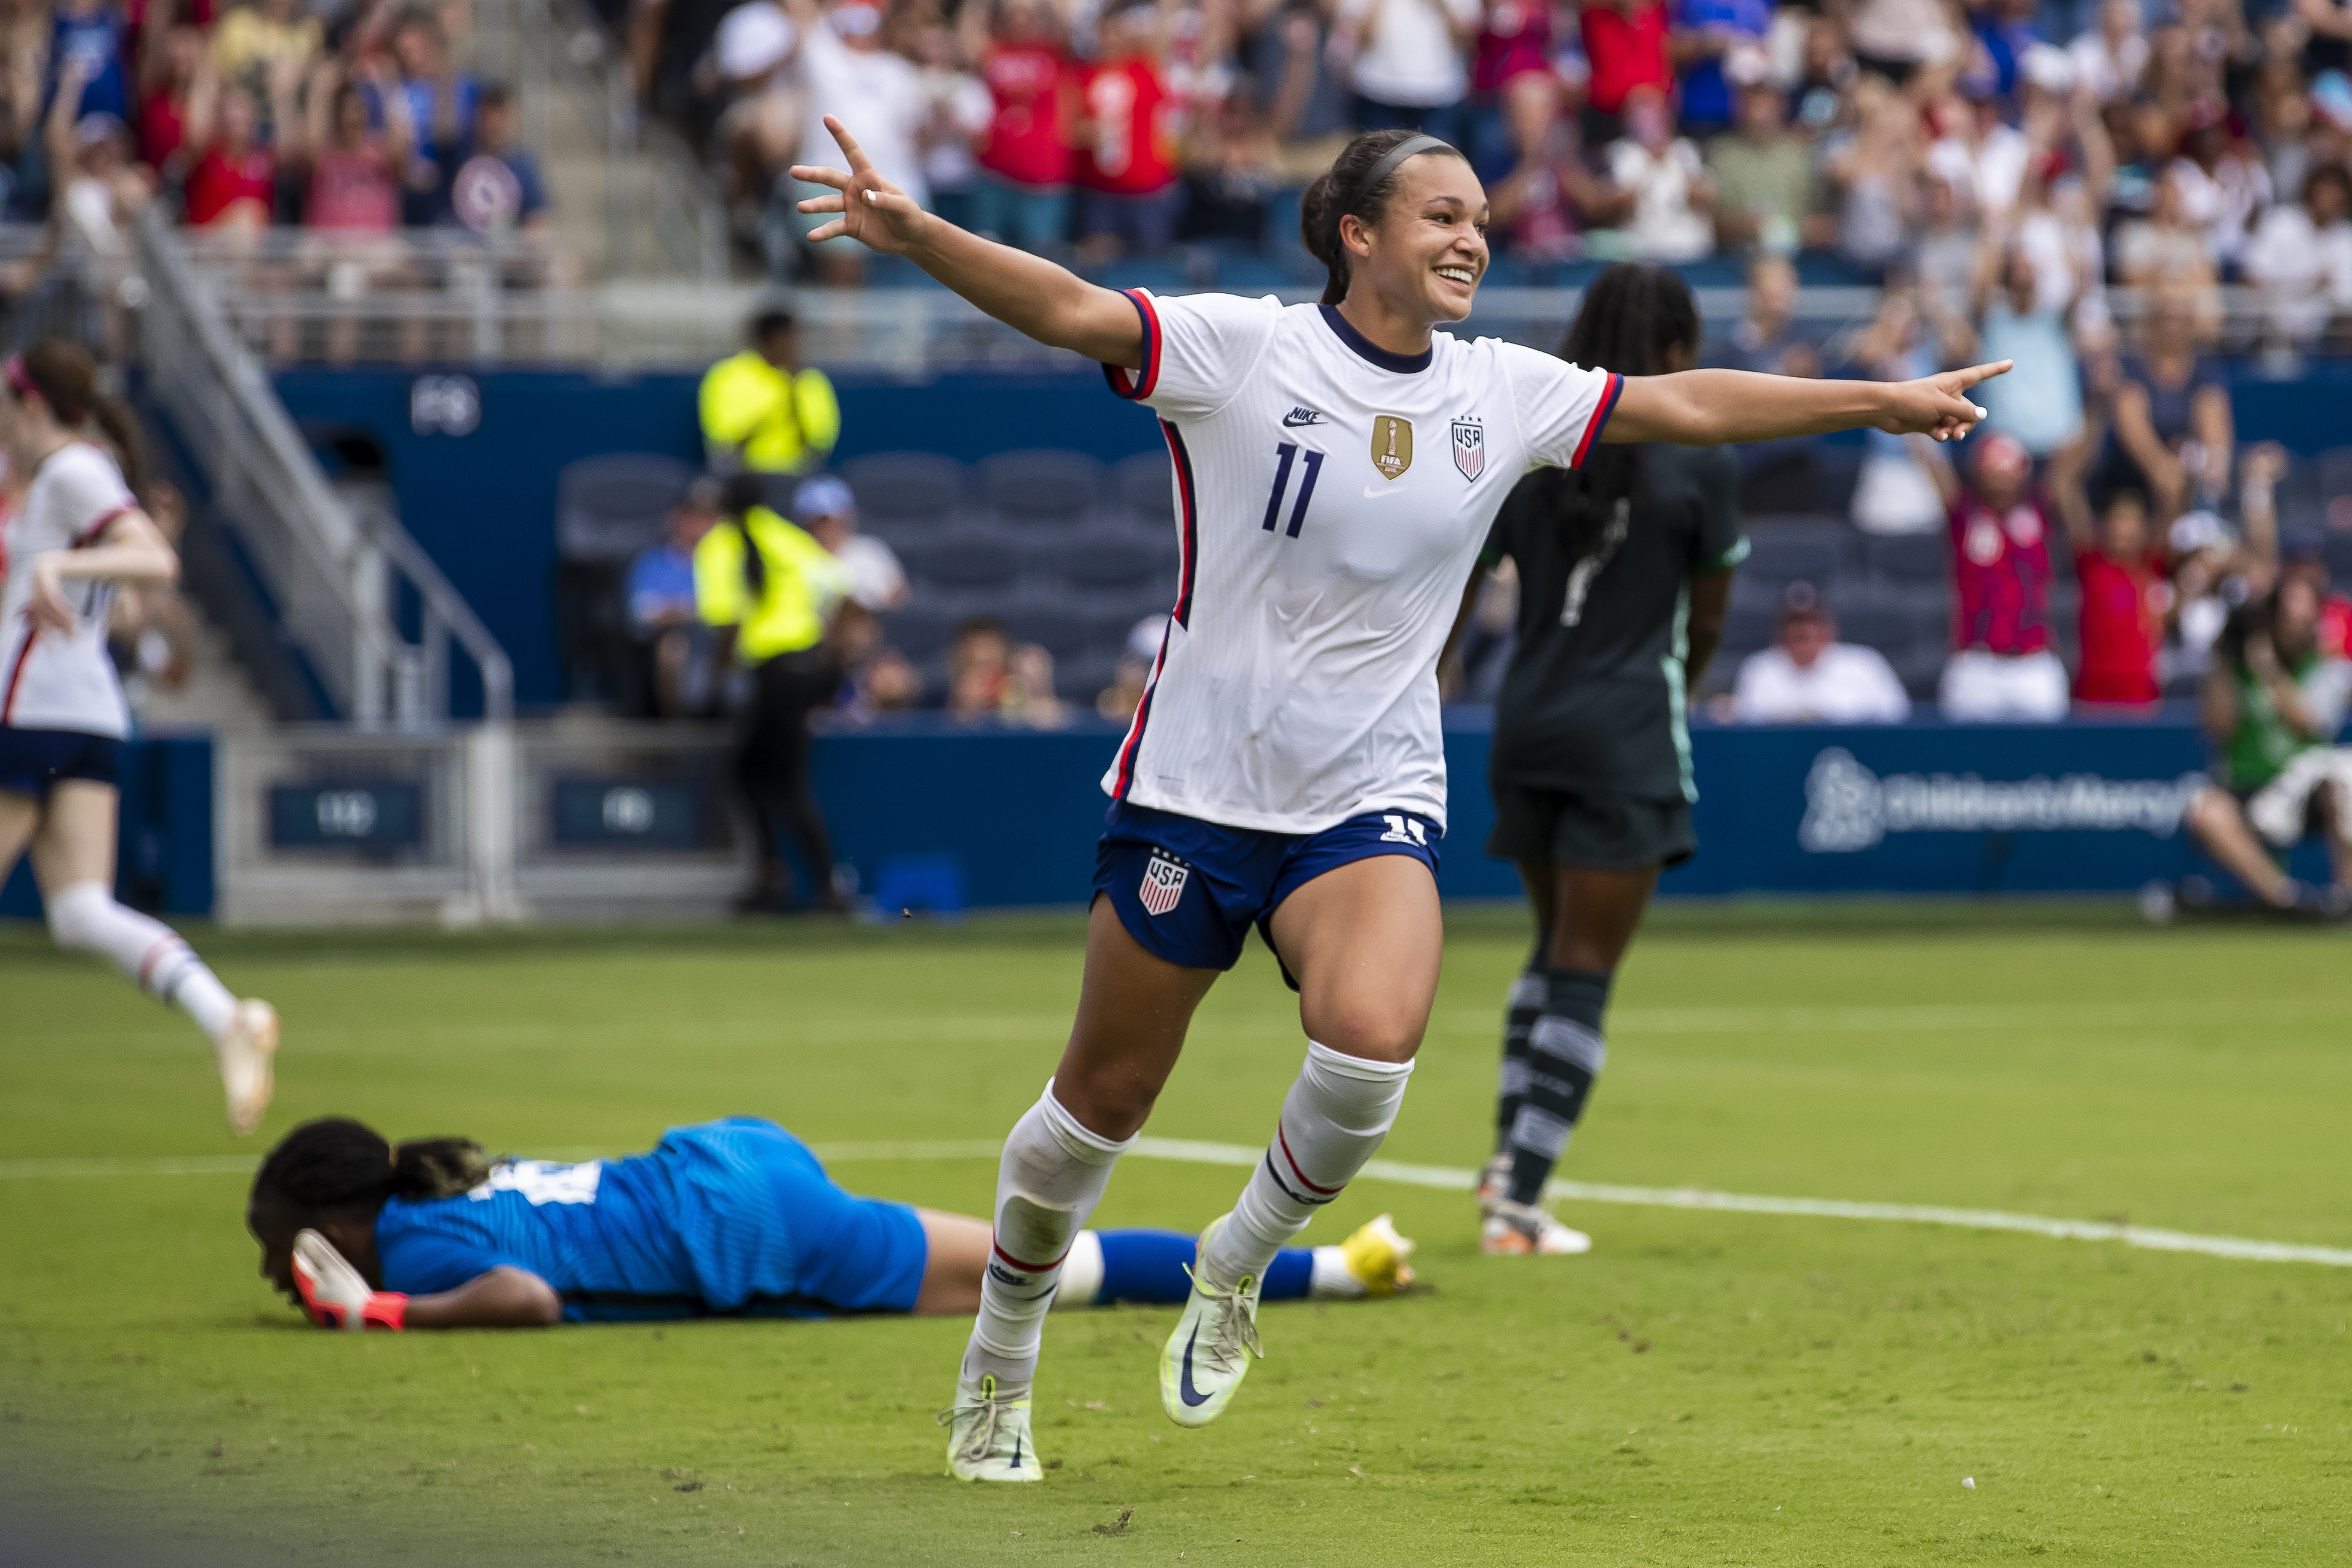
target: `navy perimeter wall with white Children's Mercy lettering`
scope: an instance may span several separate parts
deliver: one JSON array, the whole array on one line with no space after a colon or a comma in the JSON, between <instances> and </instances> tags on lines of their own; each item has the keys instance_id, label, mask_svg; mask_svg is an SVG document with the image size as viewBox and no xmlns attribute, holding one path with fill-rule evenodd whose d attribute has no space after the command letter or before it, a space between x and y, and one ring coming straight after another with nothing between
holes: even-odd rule
<instances>
[{"instance_id":1,"label":"navy perimeter wall with white Children's Mercy lettering","mask_svg":"<svg viewBox=\"0 0 2352 1568\"><path fill-rule=\"evenodd\" d=\"M870 891L896 889L913 907L943 912L1077 905L1094 882L1098 780L1120 733L1091 717L1047 733L910 717L821 736L816 788L842 863ZM1451 830L1439 877L1449 898L1519 891L1512 870L1484 853L1494 825L1486 736L1486 712L1449 712ZM1665 896L2124 893L2211 870L2178 830L2204 766L2204 741L2185 717L1703 724L1691 750L1700 849L1665 877ZM186 738L125 750L127 903L165 914L212 907L209 752ZM659 835L647 844L670 846ZM2296 870L2319 879L2326 860L2307 844ZM28 870L0 896L0 914L38 914Z\"/></svg>"}]
</instances>

